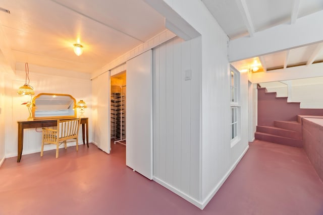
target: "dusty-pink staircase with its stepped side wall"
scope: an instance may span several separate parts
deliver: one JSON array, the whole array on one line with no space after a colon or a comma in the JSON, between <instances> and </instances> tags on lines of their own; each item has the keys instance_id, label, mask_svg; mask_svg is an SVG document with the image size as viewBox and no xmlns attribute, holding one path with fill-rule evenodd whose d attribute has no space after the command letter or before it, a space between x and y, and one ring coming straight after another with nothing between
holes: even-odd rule
<instances>
[{"instance_id":1,"label":"dusty-pink staircase with its stepped side wall","mask_svg":"<svg viewBox=\"0 0 323 215\"><path fill-rule=\"evenodd\" d=\"M300 115L322 116L323 109L300 109L299 102L287 102L287 97L277 97L276 92L258 89L258 125L255 139L302 148Z\"/></svg>"}]
</instances>

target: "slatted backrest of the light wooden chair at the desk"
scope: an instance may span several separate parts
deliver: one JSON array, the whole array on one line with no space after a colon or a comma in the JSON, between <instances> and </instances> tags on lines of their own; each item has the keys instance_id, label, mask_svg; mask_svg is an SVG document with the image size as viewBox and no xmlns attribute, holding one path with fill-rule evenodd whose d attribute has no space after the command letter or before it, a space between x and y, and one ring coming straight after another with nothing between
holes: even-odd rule
<instances>
[{"instance_id":1,"label":"slatted backrest of the light wooden chair at the desk","mask_svg":"<svg viewBox=\"0 0 323 215\"><path fill-rule=\"evenodd\" d=\"M59 138L77 136L81 119L57 120Z\"/></svg>"}]
</instances>

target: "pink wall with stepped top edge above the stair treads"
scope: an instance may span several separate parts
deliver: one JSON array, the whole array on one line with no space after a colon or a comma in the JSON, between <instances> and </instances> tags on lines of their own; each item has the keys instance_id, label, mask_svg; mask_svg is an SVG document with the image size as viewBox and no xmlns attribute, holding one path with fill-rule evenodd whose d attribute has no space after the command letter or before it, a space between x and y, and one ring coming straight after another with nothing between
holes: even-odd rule
<instances>
[{"instance_id":1,"label":"pink wall with stepped top edge above the stair treads","mask_svg":"<svg viewBox=\"0 0 323 215\"><path fill-rule=\"evenodd\" d=\"M265 88L258 88L258 125L297 121L297 115L323 116L323 109L300 109L299 103L287 103L287 98L276 98L276 93L265 93Z\"/></svg>"}]
</instances>

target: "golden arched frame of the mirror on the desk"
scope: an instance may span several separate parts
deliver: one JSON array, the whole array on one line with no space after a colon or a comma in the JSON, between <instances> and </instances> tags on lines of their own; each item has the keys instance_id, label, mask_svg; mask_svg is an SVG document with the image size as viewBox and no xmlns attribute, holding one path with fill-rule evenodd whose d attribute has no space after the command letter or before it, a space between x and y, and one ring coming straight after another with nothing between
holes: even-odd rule
<instances>
[{"instance_id":1,"label":"golden arched frame of the mirror on the desk","mask_svg":"<svg viewBox=\"0 0 323 215\"><path fill-rule=\"evenodd\" d=\"M52 115L48 115L48 116L43 116L43 117L37 117L35 116L35 111L37 110L37 106L36 106L36 100L37 98L41 97L41 96L68 96L70 97L73 102L74 102L74 105L73 105L73 113L74 115L64 115L64 116L52 116ZM73 96L69 95L69 94L57 94L57 93L40 93L38 94L37 96L35 96L33 99L32 99L32 117L34 120L37 120L37 119L67 119L67 118L76 118L76 100Z\"/></svg>"}]
</instances>

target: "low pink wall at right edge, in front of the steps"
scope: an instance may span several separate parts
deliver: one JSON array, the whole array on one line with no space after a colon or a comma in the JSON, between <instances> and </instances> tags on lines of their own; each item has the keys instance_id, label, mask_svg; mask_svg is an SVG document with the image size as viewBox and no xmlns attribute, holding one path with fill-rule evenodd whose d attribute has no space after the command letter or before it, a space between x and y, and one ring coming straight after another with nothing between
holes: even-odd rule
<instances>
[{"instance_id":1,"label":"low pink wall at right edge, in front of the steps","mask_svg":"<svg viewBox=\"0 0 323 215\"><path fill-rule=\"evenodd\" d=\"M323 118L303 118L302 121L304 150L323 181Z\"/></svg>"}]
</instances>

